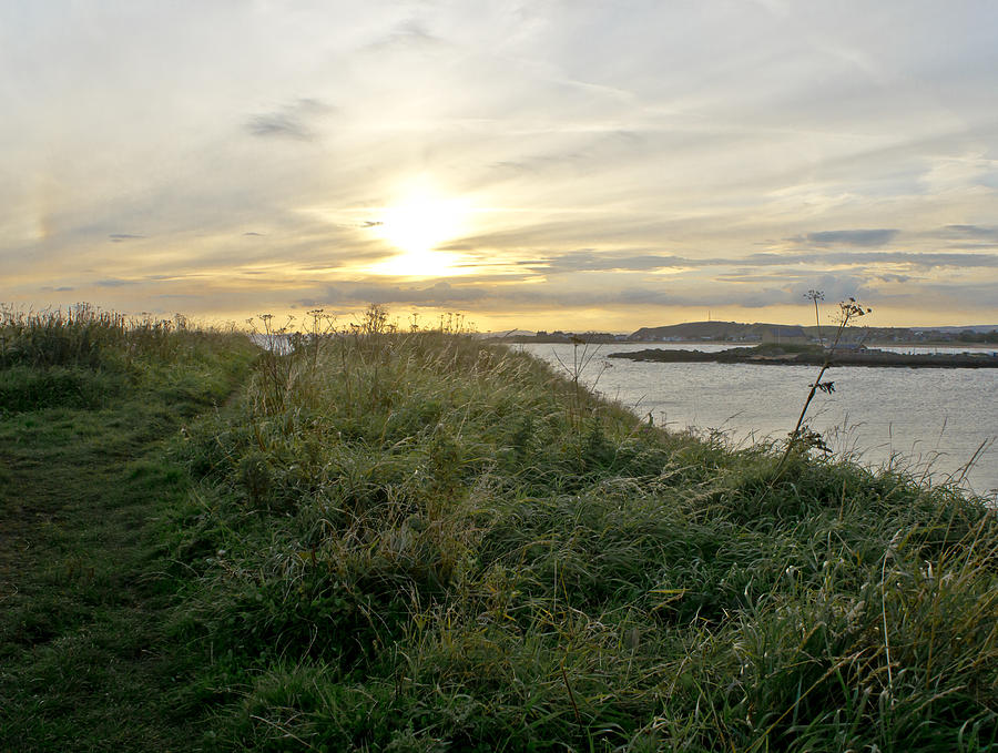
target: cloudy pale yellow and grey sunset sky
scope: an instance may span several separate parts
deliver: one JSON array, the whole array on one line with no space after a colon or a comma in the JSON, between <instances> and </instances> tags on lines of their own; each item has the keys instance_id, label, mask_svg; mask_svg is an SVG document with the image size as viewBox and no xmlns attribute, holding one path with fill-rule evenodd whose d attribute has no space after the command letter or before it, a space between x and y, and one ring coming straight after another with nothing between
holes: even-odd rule
<instances>
[{"instance_id":1,"label":"cloudy pale yellow and grey sunset sky","mask_svg":"<svg viewBox=\"0 0 998 753\"><path fill-rule=\"evenodd\" d=\"M998 324L998 3L0 0L0 302Z\"/></svg>"}]
</instances>

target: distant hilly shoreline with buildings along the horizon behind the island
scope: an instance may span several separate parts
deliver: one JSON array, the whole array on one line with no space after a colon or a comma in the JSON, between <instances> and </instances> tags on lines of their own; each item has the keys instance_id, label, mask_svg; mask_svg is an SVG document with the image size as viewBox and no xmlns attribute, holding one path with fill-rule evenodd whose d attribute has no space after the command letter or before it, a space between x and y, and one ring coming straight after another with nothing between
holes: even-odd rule
<instances>
[{"instance_id":1,"label":"distant hilly shoreline with buildings along the horizon behind the island","mask_svg":"<svg viewBox=\"0 0 998 753\"><path fill-rule=\"evenodd\" d=\"M688 322L664 327L641 327L631 334L608 332L536 333L517 329L510 333L489 333L490 339L506 343L776 343L803 345L827 339L835 325L787 326L780 324L742 324L739 322ZM974 327L847 327L842 343L870 345L995 345L998 325Z\"/></svg>"}]
</instances>

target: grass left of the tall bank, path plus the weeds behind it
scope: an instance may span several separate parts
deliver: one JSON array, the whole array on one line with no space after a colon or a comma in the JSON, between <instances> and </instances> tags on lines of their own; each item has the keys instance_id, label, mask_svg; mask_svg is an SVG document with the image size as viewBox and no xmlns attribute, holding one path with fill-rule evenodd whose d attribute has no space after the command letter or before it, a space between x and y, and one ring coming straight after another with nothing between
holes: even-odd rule
<instances>
[{"instance_id":1,"label":"grass left of the tall bank, path plus the weeds behind it","mask_svg":"<svg viewBox=\"0 0 998 753\"><path fill-rule=\"evenodd\" d=\"M173 702L193 668L163 630L174 601L151 521L190 492L163 440L227 398L253 349L173 332L167 362L119 326L84 364L24 364L2 330L3 751L176 751L200 736Z\"/></svg>"}]
</instances>

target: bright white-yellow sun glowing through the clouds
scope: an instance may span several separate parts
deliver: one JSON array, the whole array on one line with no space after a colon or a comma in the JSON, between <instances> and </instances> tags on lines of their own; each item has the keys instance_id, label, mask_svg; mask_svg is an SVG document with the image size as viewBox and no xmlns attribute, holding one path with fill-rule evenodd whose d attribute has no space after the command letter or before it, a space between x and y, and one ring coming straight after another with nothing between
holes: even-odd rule
<instances>
[{"instance_id":1,"label":"bright white-yellow sun glowing through the clouds","mask_svg":"<svg viewBox=\"0 0 998 753\"><path fill-rule=\"evenodd\" d=\"M399 277L440 277L462 274L464 254L438 246L467 232L469 202L448 197L422 183L384 207L368 226L399 254L368 267L368 272Z\"/></svg>"}]
</instances>

